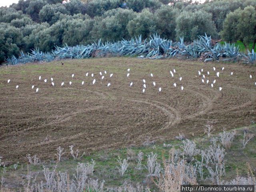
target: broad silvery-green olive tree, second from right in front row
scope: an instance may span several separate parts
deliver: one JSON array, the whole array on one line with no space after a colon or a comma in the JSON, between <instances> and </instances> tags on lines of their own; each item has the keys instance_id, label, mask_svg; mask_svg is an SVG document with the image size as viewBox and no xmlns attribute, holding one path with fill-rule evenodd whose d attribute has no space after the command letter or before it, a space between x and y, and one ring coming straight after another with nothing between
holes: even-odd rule
<instances>
[{"instance_id":1,"label":"broad silvery-green olive tree, second from right in front row","mask_svg":"<svg viewBox=\"0 0 256 192\"><path fill-rule=\"evenodd\" d=\"M212 15L199 10L197 12L184 11L176 19L176 39L184 37L185 42L196 39L204 33L216 37L218 34L212 21Z\"/></svg>"}]
</instances>

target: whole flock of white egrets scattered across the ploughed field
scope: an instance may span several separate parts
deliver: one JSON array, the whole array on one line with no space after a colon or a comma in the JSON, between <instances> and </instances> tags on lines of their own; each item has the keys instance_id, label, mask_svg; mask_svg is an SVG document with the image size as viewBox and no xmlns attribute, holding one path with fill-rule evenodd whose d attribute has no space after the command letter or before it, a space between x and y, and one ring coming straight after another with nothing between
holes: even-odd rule
<instances>
[{"instance_id":1,"label":"whole flock of white egrets scattered across the ploughed field","mask_svg":"<svg viewBox=\"0 0 256 192\"><path fill-rule=\"evenodd\" d=\"M224 69L225 69L224 67L221 68L222 71L223 71ZM213 71L214 71L214 73L216 72L216 68L215 68L215 67L213 67ZM202 78L202 79L201 79L202 83L209 84L210 80L208 79L207 76L210 76L210 72L207 71L207 73L205 73L205 74L203 74L203 73L204 73L204 69L203 69L203 68L202 68L201 70L198 70L198 75L199 75L199 77ZM212 73L212 72L211 72L211 73ZM99 72L99 74L100 74L101 80L104 80L104 77L107 75L107 72L106 72L106 70L105 70L104 73ZM176 74L176 70L175 70L175 69L170 70L170 76L172 76L172 78L174 78L174 74ZM105 76L104 76L104 75L105 75ZM231 72L230 75L232 76L232 75L233 75L233 72ZM74 74L71 75L72 78L74 78L74 76L75 76ZM89 72L87 72L87 73L85 74L85 76L88 77L88 76L89 76ZM91 76L94 77L94 74L92 73ZM110 78L111 78L112 76L113 76L113 73L110 74ZM126 77L128 78L129 76L130 76L130 68L128 68L128 70L127 70L127 75L126 75ZM214 75L214 76L215 76L215 75ZM153 77L153 74L152 74L152 73L150 73L150 77ZM196 77L197 77L197 76L196 76ZM216 72L216 77L218 77L218 78L220 77L220 72ZM41 78L42 78L42 77L39 76L39 78L38 78L39 81L41 80ZM54 86L53 78L51 77L50 79L51 79L51 85ZM181 76L179 76L178 79L179 79L180 81L182 81L182 77L181 77ZM251 74L250 74L250 79L252 79L252 75L251 75ZM8 80L7 80L7 83L10 83L10 82L11 82L11 80L8 79ZM47 79L44 79L44 82L47 83ZM94 80L92 81L92 85L94 85L95 82L96 82L96 79L94 78ZM145 92L146 92L146 88L147 88L147 86L146 86L146 80L145 80L145 79L142 79L142 82L143 82L142 93L145 93ZM153 83L153 86L155 87L155 86L156 86L156 82L153 81L152 83ZM213 88L215 83L216 83L216 79L214 79L214 80L212 81L212 83L210 83L210 86ZM72 81L70 81L69 84L72 85ZM84 85L84 81L82 81L82 85ZM108 82L107 87L109 87L110 85L111 85L111 83ZM133 85L134 85L133 82L130 82L130 87L132 87ZM255 85L256 85L256 82L255 82ZM64 86L64 82L62 82L62 83L60 84L60 86ZM176 87L177 84L174 83L173 86ZM35 86L32 85L32 89L34 89L34 87L35 87ZM16 89L18 89L18 88L19 88L19 85L16 85ZM181 90L184 90L184 87L181 86L180 89L181 89ZM36 88L36 93L38 92L38 90L39 90L39 88ZM219 87L219 90L221 91L221 90L222 90L222 87ZM161 92L161 91L162 91L162 88L159 87L159 88L158 88L158 91Z\"/></svg>"}]
</instances>

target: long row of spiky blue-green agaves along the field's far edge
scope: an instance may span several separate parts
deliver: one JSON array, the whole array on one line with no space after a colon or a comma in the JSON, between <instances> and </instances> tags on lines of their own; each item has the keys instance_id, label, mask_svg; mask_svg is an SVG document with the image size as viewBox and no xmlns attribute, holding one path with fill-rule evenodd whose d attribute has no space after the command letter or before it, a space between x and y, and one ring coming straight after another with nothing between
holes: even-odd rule
<instances>
[{"instance_id":1,"label":"long row of spiky blue-green agaves along the field's far edge","mask_svg":"<svg viewBox=\"0 0 256 192\"><path fill-rule=\"evenodd\" d=\"M55 58L74 58L84 59L92 57L104 56L130 56L140 58L172 58L172 57L186 57L199 58L199 60L207 62L211 60L216 61L238 61L241 60L247 64L256 63L256 52L248 51L244 54L239 51L235 44L215 44L212 45L211 37L198 36L192 44L185 45L183 38L180 42L172 42L172 40L162 39L157 34L153 34L149 39L142 40L141 36L132 38L131 40L122 40L118 42L102 43L101 39L98 43L76 45L73 47L67 44L64 47L55 47L51 52L40 52L38 48L31 51L31 53L24 54L20 52L20 56L16 58L12 56L6 59L6 62L11 65L24 64L28 62L44 61L50 62Z\"/></svg>"}]
</instances>

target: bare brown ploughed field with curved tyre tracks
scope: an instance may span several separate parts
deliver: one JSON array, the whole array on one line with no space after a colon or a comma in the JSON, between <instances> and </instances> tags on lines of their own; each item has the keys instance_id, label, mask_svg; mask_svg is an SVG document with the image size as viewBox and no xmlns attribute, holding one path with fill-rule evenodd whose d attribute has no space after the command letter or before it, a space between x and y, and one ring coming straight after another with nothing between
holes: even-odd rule
<instances>
[{"instance_id":1,"label":"bare brown ploughed field with curved tyre tracks","mask_svg":"<svg viewBox=\"0 0 256 192\"><path fill-rule=\"evenodd\" d=\"M202 135L208 122L215 130L228 130L256 121L255 67L174 59L63 62L63 66L56 61L0 68L0 156L6 163L26 161L26 154L49 160L54 158L58 146L68 149L74 145L89 154L141 145L148 138L167 140L178 133ZM208 84L202 83L202 74L198 76L202 68ZM173 69L174 78L170 75ZM220 72L220 77L216 72ZM96 83L92 85L94 78ZM142 79L147 86L144 94ZM211 88L214 79L216 83ZM61 82L64 86L60 86Z\"/></svg>"}]
</instances>

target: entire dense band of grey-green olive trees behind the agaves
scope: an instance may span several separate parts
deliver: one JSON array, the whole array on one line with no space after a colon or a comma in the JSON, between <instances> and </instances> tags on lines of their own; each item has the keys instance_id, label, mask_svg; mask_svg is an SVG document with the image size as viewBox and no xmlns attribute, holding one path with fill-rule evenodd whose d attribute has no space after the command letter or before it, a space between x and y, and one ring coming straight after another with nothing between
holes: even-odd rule
<instances>
[{"instance_id":1,"label":"entire dense band of grey-green olive trees behind the agaves","mask_svg":"<svg viewBox=\"0 0 256 192\"><path fill-rule=\"evenodd\" d=\"M0 63L20 51L117 41L153 33L190 42L204 33L256 43L255 0L19 0L0 8Z\"/></svg>"}]
</instances>

